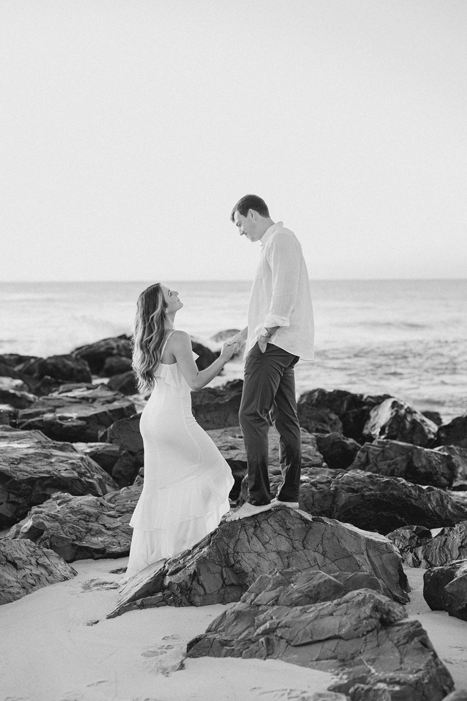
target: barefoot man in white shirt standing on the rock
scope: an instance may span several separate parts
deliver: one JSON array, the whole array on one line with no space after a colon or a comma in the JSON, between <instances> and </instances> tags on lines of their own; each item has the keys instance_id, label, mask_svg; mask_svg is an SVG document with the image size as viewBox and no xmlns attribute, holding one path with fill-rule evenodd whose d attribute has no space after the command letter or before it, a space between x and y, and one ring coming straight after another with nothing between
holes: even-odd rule
<instances>
[{"instance_id":1,"label":"barefoot man in white shirt standing on the rock","mask_svg":"<svg viewBox=\"0 0 467 701\"><path fill-rule=\"evenodd\" d=\"M264 200L245 195L230 219L240 236L261 242L261 258L251 288L248 326L229 343L246 341L245 375L239 420L248 463L249 500L228 521L270 508L298 508L301 440L293 368L313 360L314 324L307 266L295 234L274 224ZM267 433L272 414L279 433L282 482L271 502L267 475Z\"/></svg>"}]
</instances>

